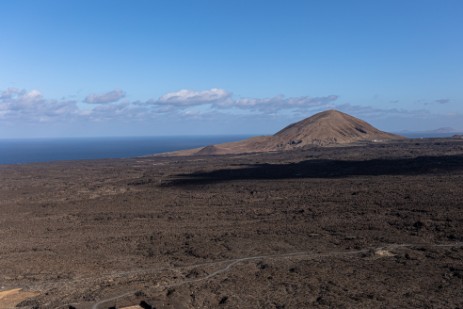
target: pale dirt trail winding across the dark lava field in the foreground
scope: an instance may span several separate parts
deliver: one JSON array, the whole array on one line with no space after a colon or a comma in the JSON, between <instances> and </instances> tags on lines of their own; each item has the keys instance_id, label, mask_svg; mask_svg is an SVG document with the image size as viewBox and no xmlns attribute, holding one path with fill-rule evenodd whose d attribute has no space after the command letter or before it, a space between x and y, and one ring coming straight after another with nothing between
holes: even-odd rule
<instances>
[{"instance_id":1,"label":"pale dirt trail winding across the dark lava field in the foreground","mask_svg":"<svg viewBox=\"0 0 463 309\"><path fill-rule=\"evenodd\" d=\"M172 288L172 287L178 287L184 284L191 284L191 283L197 283L205 280L209 280L221 273L225 273L229 271L233 266L246 262L246 261L254 261L254 260L263 260L263 259L285 259L285 258L291 258L291 257L300 257L300 258L305 258L305 259L317 259L317 258L328 258L328 257L335 257L335 256L353 256L353 255L358 255L358 254L365 254L368 252L377 252L378 250L394 250L397 248L410 248L410 247L447 247L447 248L454 248L454 247L463 247L463 242L456 242L456 243L449 243L449 244L388 244L380 247L371 247L367 249L361 249L361 250L353 250L353 251L329 251L326 253L313 253L313 252L308 252L308 251L301 251L301 252L291 252L291 253L281 253L281 254L271 254L271 255L257 255L257 256L249 256L249 257L242 257L242 258L236 258L236 259L229 259L229 260L223 260L223 261L218 261L218 262L211 262L211 263L200 263L200 264L193 264L193 265L187 265L187 266L180 266L176 267L177 269L194 269L196 267L200 266L212 266L212 265L219 265L219 264L227 264L225 267L220 268L207 276L201 277L201 278L195 278L195 279L188 279L188 280L183 280L177 283L173 284L166 284L164 286L160 286L160 289L167 289L167 288ZM136 273L148 273L149 270L145 271L137 271ZM135 272L134 272L135 273ZM114 301L120 298L124 298L127 296L134 295L135 291L132 292L127 292L124 294L120 294L117 296L113 296L111 298L106 298L98 301L92 306L92 309L99 309L99 306L110 302Z\"/></svg>"}]
</instances>

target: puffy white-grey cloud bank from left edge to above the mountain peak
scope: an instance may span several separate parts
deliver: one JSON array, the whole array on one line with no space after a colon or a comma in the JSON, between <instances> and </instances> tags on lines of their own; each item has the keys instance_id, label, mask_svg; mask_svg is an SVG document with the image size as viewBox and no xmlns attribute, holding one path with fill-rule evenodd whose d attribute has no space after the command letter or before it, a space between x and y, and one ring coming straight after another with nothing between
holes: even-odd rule
<instances>
[{"instance_id":1,"label":"puffy white-grey cloud bank from left edge to above the mountain peak","mask_svg":"<svg viewBox=\"0 0 463 309\"><path fill-rule=\"evenodd\" d=\"M334 108L337 95L320 97L236 98L224 89L179 90L146 101L125 99L122 90L89 94L83 100L49 99L37 90L8 88L0 92L0 120L27 122L150 121L163 115L200 119L205 115L272 115Z\"/></svg>"}]
</instances>

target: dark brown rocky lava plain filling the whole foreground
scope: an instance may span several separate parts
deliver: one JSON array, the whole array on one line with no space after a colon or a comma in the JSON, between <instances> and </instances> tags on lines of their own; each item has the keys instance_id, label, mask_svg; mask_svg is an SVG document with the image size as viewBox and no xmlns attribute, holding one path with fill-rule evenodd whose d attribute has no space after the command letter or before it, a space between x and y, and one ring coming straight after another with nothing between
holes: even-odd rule
<instances>
[{"instance_id":1,"label":"dark brown rocky lava plain filling the whole foreground","mask_svg":"<svg viewBox=\"0 0 463 309\"><path fill-rule=\"evenodd\" d=\"M0 166L0 308L463 307L463 140L204 152Z\"/></svg>"}]
</instances>

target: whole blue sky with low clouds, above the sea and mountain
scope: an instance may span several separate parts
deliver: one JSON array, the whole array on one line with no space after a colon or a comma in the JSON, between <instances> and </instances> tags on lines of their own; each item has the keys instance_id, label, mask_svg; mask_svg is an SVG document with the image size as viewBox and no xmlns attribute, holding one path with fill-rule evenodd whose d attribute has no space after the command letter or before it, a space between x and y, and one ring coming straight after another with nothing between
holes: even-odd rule
<instances>
[{"instance_id":1,"label":"whole blue sky with low clouds, above the sea and mountain","mask_svg":"<svg viewBox=\"0 0 463 309\"><path fill-rule=\"evenodd\" d=\"M463 1L0 1L0 138L463 130Z\"/></svg>"}]
</instances>

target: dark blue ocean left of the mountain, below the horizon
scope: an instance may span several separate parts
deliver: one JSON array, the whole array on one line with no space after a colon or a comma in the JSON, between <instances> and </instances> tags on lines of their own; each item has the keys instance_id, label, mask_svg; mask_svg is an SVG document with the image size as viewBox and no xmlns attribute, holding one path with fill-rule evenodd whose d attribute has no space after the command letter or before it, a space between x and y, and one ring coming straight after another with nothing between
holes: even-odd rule
<instances>
[{"instance_id":1,"label":"dark blue ocean left of the mountain, below the horizon","mask_svg":"<svg viewBox=\"0 0 463 309\"><path fill-rule=\"evenodd\" d=\"M129 158L238 141L249 135L0 139L0 164Z\"/></svg>"}]
</instances>

